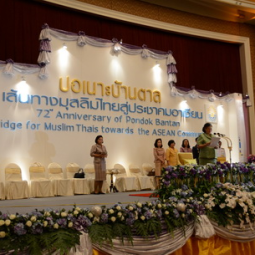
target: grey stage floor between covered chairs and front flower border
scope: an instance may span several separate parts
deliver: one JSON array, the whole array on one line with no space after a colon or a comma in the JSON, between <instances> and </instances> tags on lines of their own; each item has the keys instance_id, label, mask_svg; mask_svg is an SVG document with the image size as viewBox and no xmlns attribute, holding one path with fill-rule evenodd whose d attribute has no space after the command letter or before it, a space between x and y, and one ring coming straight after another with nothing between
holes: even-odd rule
<instances>
[{"instance_id":1,"label":"grey stage floor between covered chairs and front flower border","mask_svg":"<svg viewBox=\"0 0 255 255\"><path fill-rule=\"evenodd\" d=\"M122 204L144 202L155 198L130 196L135 194L148 194L153 191L136 191L136 192L118 192L107 193L105 195L76 195L69 197L47 197L47 198L28 198L19 200L1 200L0 211L2 213L30 213L33 209L43 210L61 210L71 209L74 205L81 208L91 208L93 205L110 207L118 202Z\"/></svg>"}]
</instances>

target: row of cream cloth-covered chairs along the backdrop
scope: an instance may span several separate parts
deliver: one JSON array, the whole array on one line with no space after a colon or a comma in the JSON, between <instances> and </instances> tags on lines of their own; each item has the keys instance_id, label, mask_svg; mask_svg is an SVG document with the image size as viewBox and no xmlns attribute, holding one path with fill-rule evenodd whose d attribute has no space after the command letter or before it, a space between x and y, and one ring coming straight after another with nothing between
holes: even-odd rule
<instances>
[{"instance_id":1,"label":"row of cream cloth-covered chairs along the backdrop","mask_svg":"<svg viewBox=\"0 0 255 255\"><path fill-rule=\"evenodd\" d=\"M33 163L29 167L30 183L22 180L21 168L11 163L5 168L5 185L0 182L0 199L24 199L29 197L53 197L73 196L78 194L90 194L94 191L95 169L93 164L84 167L85 178L74 178L80 166L69 163L66 166L66 176L58 163L50 163L45 167L39 163ZM150 164L143 164L142 169L136 165L129 166L129 175L121 164L115 164L108 170L114 172L115 186L120 192L155 189L154 178L147 176L153 169ZM102 191L109 192L110 175L104 181ZM29 185L30 184L30 185Z\"/></svg>"}]
</instances>

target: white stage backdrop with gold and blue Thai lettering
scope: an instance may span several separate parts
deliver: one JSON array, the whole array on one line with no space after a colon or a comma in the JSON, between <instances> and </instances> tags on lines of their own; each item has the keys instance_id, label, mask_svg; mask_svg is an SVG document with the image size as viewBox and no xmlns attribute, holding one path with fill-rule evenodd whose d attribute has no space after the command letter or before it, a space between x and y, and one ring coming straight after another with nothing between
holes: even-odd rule
<instances>
[{"instance_id":1,"label":"white stage backdrop with gold and blue Thai lettering","mask_svg":"<svg viewBox=\"0 0 255 255\"><path fill-rule=\"evenodd\" d=\"M35 161L58 162L63 169L70 162L92 163L97 135L104 137L108 168L153 164L156 138L164 148L174 139L179 150L184 138L193 146L207 121L233 140L233 162L244 160L241 95L232 94L230 102L172 96L166 60L113 54L111 47L80 47L75 41L66 46L52 38L47 79L0 74L1 180L11 162L28 180Z\"/></svg>"}]
</instances>

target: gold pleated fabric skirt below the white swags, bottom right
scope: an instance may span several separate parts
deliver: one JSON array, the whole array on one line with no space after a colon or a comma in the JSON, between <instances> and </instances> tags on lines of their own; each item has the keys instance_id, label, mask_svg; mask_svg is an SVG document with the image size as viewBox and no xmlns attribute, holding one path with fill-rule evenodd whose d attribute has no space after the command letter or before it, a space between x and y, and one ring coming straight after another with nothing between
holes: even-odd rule
<instances>
[{"instance_id":1,"label":"gold pleated fabric skirt below the white swags, bottom right","mask_svg":"<svg viewBox=\"0 0 255 255\"><path fill-rule=\"evenodd\" d=\"M171 255L254 255L255 241L248 243L238 243L213 236L202 240L191 237L187 243ZM108 255L97 250L93 250L93 255Z\"/></svg>"}]
</instances>

